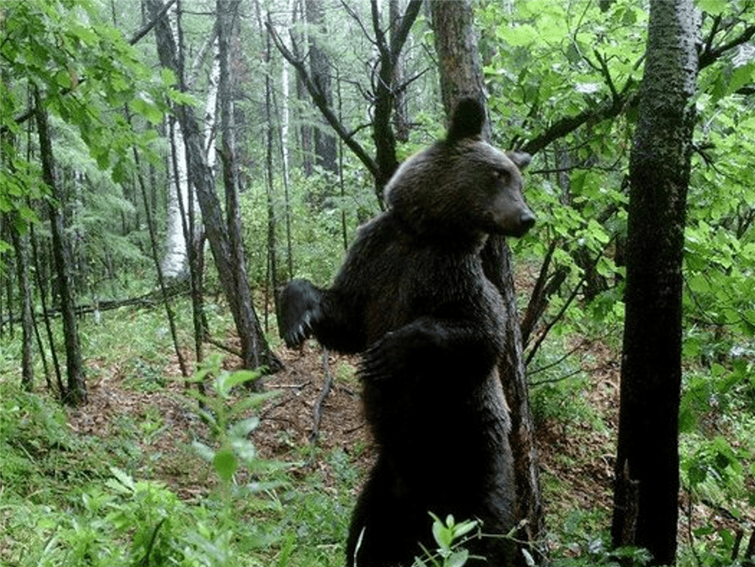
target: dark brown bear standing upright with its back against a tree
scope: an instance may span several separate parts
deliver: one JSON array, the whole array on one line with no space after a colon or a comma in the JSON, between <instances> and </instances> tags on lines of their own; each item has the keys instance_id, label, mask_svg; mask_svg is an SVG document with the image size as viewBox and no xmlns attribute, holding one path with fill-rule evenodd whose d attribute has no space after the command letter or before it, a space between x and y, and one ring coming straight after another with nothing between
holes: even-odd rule
<instances>
[{"instance_id":1,"label":"dark brown bear standing upright with its back against a tree","mask_svg":"<svg viewBox=\"0 0 755 567\"><path fill-rule=\"evenodd\" d=\"M522 236L523 153L482 140L485 111L458 104L445 140L412 156L385 190L388 210L359 230L331 288L288 282L279 325L289 346L313 334L362 353L365 416L379 448L359 496L347 565L411 565L432 549L432 519L480 519L467 543L509 565L514 482L500 294L482 272L488 234ZM475 562L476 563L476 562ZM482 562L479 562L482 564Z\"/></svg>"}]
</instances>

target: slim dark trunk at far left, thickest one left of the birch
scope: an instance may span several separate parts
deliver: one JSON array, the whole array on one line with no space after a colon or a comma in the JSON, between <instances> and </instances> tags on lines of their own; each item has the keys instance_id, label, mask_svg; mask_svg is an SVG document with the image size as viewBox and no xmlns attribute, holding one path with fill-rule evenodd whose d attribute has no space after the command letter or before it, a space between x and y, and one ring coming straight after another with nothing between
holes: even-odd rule
<instances>
[{"instance_id":1,"label":"slim dark trunk at far left, thickest one left of the birch","mask_svg":"<svg viewBox=\"0 0 755 567\"><path fill-rule=\"evenodd\" d=\"M50 188L54 200L63 204L63 192L55 180L55 168L52 154L52 141L48 125L47 112L42 106L39 91L34 89L34 110L39 130L39 154L42 159L42 180ZM82 346L79 342L79 328L76 324L75 297L73 282L70 276L70 251L68 240L63 228L63 210L48 203L50 227L52 232L52 251L60 290L60 311L63 319L63 335L66 344L66 391L60 395L68 405L76 406L87 402L87 386L85 383L84 362L82 360Z\"/></svg>"}]
</instances>

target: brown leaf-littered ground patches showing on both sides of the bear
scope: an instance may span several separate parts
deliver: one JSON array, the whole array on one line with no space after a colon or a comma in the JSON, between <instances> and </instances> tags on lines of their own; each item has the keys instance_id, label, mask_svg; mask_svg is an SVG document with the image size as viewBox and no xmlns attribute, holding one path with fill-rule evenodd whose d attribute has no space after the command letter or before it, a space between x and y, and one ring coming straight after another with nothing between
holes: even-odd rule
<instances>
[{"instance_id":1,"label":"brown leaf-littered ground patches showing on both sides of the bear","mask_svg":"<svg viewBox=\"0 0 755 567\"><path fill-rule=\"evenodd\" d=\"M233 337L230 339L233 341ZM578 547L605 533L610 524L615 439L618 424L619 353L602 341L580 339L565 348L575 349L578 366L587 379L581 381L577 396L589 414L579 414L565 400L562 413L541 418L537 423L538 458L547 514L550 545L567 549L575 538ZM285 365L282 371L264 378L265 390L276 392L257 411L260 424L251 439L260 458L293 463L293 479L319 473L323 489L337 485L333 451L343 451L359 471L359 479L374 462L376 448L362 416L360 386L356 378L358 359L329 353L326 361L315 341L300 350L281 347L277 353ZM239 361L226 355L223 365L235 369ZM88 365L97 366L97 360ZM206 495L214 481L209 465L201 463L193 451L193 440L211 444L208 428L196 411L196 399L186 396L175 359L165 367L172 381L160 387L134 387L125 368L98 368L96 381L89 384L89 402L69 411L73 430L103 439L117 436L124 423L140 430L141 469L135 476L166 482L181 498L193 501ZM328 374L331 388L323 396ZM237 399L248 396L238 389ZM314 411L321 410L316 425ZM317 428L318 433L313 436ZM353 499L359 483L353 488ZM680 498L680 544L689 533L686 496ZM726 522L716 510L695 504L692 525L722 525ZM576 524L578 527L575 527ZM569 525L571 524L571 527ZM565 535L568 534L568 535ZM575 535L576 534L576 535Z\"/></svg>"}]
</instances>

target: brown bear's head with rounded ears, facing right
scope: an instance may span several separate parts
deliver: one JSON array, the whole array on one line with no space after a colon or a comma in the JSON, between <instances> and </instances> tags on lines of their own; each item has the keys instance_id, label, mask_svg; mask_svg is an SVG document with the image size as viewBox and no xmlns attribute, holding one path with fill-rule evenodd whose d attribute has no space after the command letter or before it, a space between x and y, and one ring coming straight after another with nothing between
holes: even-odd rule
<instances>
[{"instance_id":1,"label":"brown bear's head with rounded ears, facing right","mask_svg":"<svg viewBox=\"0 0 755 567\"><path fill-rule=\"evenodd\" d=\"M420 235L481 242L488 234L522 236L535 215L522 197L526 153L482 140L485 110L474 99L458 103L445 140L415 154L393 174L385 199L409 230Z\"/></svg>"}]
</instances>

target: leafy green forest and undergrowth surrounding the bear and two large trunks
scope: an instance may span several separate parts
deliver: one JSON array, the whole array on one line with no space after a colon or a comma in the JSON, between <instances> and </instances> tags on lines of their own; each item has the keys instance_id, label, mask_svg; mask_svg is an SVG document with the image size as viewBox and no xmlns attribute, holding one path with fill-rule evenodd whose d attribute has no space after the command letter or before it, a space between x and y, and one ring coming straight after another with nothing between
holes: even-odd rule
<instances>
[{"instance_id":1,"label":"leafy green forest and undergrowth surrounding the bear and two large trunks","mask_svg":"<svg viewBox=\"0 0 755 567\"><path fill-rule=\"evenodd\" d=\"M627 230L656 218L632 193L650 5L458 4L492 143L533 155L538 223L509 242L544 510L522 560L649 561L610 527L627 263L666 234L638 260ZM672 552L752 565L755 2L694 7ZM442 137L454 30L401 0L3 2L0 27L0 562L341 565L374 458L358 361L286 350L275 291L327 285ZM425 565L460 564L445 535Z\"/></svg>"}]
</instances>

